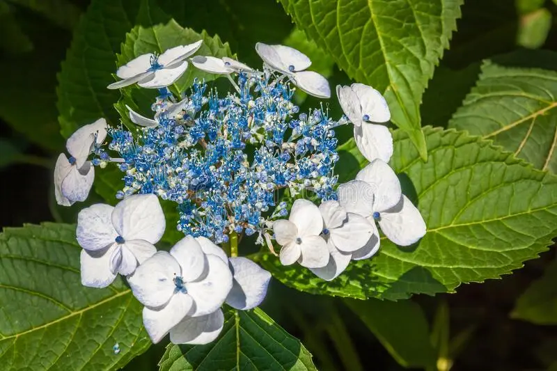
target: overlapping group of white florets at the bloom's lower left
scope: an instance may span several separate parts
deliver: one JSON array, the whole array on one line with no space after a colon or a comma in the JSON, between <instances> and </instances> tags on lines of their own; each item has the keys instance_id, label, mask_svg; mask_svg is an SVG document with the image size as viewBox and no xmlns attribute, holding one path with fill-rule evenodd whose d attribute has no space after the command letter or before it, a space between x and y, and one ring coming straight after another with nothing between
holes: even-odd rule
<instances>
[{"instance_id":1,"label":"overlapping group of white florets at the bloom's lower left","mask_svg":"<svg viewBox=\"0 0 557 371\"><path fill-rule=\"evenodd\" d=\"M221 306L248 310L265 298L271 274L246 258L227 258L205 237L186 236L157 251L165 219L157 196L139 194L116 207L96 204L79 212L81 283L107 287L127 277L145 306L143 324L153 342L167 333L175 344L205 344L219 335Z\"/></svg>"}]
</instances>

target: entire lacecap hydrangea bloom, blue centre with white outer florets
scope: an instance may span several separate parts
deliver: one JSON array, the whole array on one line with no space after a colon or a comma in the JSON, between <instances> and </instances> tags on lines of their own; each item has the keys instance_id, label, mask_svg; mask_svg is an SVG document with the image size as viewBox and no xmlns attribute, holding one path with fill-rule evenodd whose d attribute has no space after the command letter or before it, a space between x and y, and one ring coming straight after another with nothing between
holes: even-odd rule
<instances>
[{"instance_id":1,"label":"entire lacecap hydrangea bloom, blue centre with white outer florets","mask_svg":"<svg viewBox=\"0 0 557 371\"><path fill-rule=\"evenodd\" d=\"M351 260L377 253L377 225L400 246L425 234L420 213L387 164L393 139L377 123L390 113L377 90L338 86L345 111L339 120L322 106L300 112L292 102L296 89L331 96L327 80L307 70L306 55L258 43L263 68L257 70L231 58L192 56L199 47L201 41L145 54L120 67L122 80L109 88L159 89L152 116L128 106L135 130L108 127L102 119L82 127L68 139L72 157L61 155L55 172L61 205L86 199L95 166L112 164L122 172L116 207L97 204L79 213L81 281L105 287L124 276L144 306L153 342L168 333L176 344L211 342L223 327L223 303L249 310L262 302L271 275L237 256L239 236L255 235L272 253L274 244L281 246L283 265L297 262L330 281ZM226 77L230 91L195 80L175 96L167 86L189 62ZM370 164L355 180L338 184L334 129L349 123ZM288 197L280 200L282 194ZM155 247L168 227L159 199L175 203L173 228L185 235L169 251Z\"/></svg>"}]
</instances>

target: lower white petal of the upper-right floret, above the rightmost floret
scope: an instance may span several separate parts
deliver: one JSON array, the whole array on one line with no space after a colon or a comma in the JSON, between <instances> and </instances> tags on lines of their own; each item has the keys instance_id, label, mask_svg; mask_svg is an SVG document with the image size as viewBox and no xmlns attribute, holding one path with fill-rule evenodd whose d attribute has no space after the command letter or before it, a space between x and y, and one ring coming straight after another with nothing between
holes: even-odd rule
<instances>
[{"instance_id":1,"label":"lower white petal of the upper-right floret, above the rightmost floret","mask_svg":"<svg viewBox=\"0 0 557 371\"><path fill-rule=\"evenodd\" d=\"M354 126L354 141L368 161L382 159L389 162L393 155L393 136L383 125L362 123L360 127Z\"/></svg>"}]
</instances>

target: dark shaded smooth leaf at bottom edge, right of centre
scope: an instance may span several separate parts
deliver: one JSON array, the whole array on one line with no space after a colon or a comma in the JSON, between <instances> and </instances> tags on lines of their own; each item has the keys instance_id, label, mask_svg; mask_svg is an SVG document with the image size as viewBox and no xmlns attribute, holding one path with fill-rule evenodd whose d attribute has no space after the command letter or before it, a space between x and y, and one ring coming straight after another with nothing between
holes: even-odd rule
<instances>
[{"instance_id":1,"label":"dark shaded smooth leaf at bottom edge, right of centre","mask_svg":"<svg viewBox=\"0 0 557 371\"><path fill-rule=\"evenodd\" d=\"M366 301L346 299L391 356L407 368L427 368L437 357L430 342L430 329L421 307L409 300Z\"/></svg>"}]
</instances>

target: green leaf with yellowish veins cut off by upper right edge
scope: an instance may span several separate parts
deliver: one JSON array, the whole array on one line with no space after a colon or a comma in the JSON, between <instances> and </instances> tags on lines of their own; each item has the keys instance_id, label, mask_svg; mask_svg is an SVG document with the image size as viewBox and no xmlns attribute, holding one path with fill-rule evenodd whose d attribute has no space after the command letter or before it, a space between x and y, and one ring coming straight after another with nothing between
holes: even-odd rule
<instances>
[{"instance_id":1,"label":"green leaf with yellowish veins cut off by upper right edge","mask_svg":"<svg viewBox=\"0 0 557 371\"><path fill-rule=\"evenodd\" d=\"M485 61L449 127L492 139L537 168L557 172L557 72Z\"/></svg>"}]
</instances>

